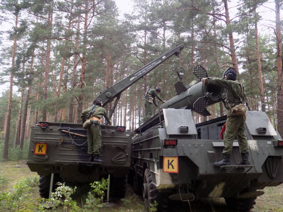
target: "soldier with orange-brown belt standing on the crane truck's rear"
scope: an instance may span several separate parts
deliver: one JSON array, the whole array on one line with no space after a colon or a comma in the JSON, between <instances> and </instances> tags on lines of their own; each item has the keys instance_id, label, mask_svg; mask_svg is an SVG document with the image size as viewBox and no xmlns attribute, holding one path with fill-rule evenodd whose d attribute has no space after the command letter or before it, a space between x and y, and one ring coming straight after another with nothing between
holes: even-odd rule
<instances>
[{"instance_id":1,"label":"soldier with orange-brown belt standing on the crane truck's rear","mask_svg":"<svg viewBox=\"0 0 283 212\"><path fill-rule=\"evenodd\" d=\"M95 99L92 107L89 107L80 114L83 122L85 122L87 119L91 121L91 125L87 129L89 154L88 162L104 162L104 160L99 158L99 149L101 147L101 117L104 116L109 125L111 125L111 120L102 105L101 99Z\"/></svg>"}]
</instances>

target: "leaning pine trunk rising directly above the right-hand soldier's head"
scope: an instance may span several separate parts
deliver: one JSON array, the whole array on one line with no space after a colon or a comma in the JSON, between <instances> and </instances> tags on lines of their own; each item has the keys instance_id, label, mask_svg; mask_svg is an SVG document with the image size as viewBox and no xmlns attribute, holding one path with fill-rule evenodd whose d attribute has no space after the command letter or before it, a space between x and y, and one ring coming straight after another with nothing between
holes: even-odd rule
<instances>
[{"instance_id":1,"label":"leaning pine trunk rising directly above the right-hand soldier's head","mask_svg":"<svg viewBox=\"0 0 283 212\"><path fill-rule=\"evenodd\" d=\"M227 28L228 28L228 27L231 27L231 21L230 21L230 16L229 16L229 9L228 9L227 0L223 0L223 2L224 2L224 7L225 7L226 25L227 25ZM233 32L230 31L228 33L228 35L229 35L230 53L231 53L231 60L232 60L232 63L233 63L233 68L239 74L238 62L237 62L237 58L236 58L236 50L235 50L235 44L234 44L234 38L233 38Z\"/></svg>"}]
</instances>

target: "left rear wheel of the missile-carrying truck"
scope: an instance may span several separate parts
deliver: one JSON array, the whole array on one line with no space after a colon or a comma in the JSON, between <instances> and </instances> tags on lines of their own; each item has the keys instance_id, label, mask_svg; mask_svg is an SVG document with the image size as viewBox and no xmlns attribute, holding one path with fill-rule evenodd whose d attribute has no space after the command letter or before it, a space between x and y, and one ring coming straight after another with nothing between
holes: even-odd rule
<instances>
[{"instance_id":1,"label":"left rear wheel of the missile-carrying truck","mask_svg":"<svg viewBox=\"0 0 283 212\"><path fill-rule=\"evenodd\" d=\"M147 211L150 211L151 205L154 204L154 201L158 203L156 209L158 212L166 212L168 204L168 196L165 193L160 193L152 184L152 178L150 169L147 168L144 172L144 184L142 187L142 194L144 198L144 204L147 208Z\"/></svg>"}]
</instances>

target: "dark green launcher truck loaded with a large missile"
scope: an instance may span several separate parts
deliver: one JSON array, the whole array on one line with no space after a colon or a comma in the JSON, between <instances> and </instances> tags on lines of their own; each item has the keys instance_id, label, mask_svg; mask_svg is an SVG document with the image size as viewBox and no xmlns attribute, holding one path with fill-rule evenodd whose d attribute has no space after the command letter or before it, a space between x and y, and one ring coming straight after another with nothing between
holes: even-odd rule
<instances>
[{"instance_id":1,"label":"dark green launcher truck loaded with a large missile","mask_svg":"<svg viewBox=\"0 0 283 212\"><path fill-rule=\"evenodd\" d=\"M232 165L213 165L222 157L226 116L195 125L192 110L209 113L205 107L221 101L225 91L202 85L200 79L207 77L203 70L192 86L178 83L177 95L135 130L128 176L134 191L142 193L147 211L154 201L157 211L167 211L168 199L216 197L225 198L227 205L238 211L250 211L256 197L264 194L258 190L283 182L283 141L264 112L247 112L251 165L237 165L241 162L237 141L233 143Z\"/></svg>"}]
</instances>

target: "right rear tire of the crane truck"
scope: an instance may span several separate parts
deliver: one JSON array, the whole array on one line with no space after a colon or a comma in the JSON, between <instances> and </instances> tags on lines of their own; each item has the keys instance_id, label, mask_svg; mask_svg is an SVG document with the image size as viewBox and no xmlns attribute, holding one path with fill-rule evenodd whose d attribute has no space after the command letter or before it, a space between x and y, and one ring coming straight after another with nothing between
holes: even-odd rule
<instances>
[{"instance_id":1,"label":"right rear tire of the crane truck","mask_svg":"<svg viewBox=\"0 0 283 212\"><path fill-rule=\"evenodd\" d=\"M126 195L126 175L110 179L110 194L112 198L124 198Z\"/></svg>"}]
</instances>

